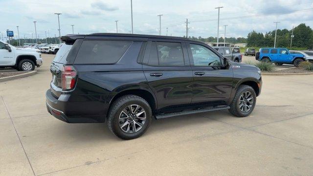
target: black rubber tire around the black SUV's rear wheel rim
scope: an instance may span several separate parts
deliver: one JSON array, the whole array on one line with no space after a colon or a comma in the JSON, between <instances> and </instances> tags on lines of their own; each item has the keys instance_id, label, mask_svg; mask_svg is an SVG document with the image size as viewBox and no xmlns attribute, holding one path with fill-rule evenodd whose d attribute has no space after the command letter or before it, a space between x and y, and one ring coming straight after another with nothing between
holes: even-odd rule
<instances>
[{"instance_id":1,"label":"black rubber tire around the black SUV's rear wheel rim","mask_svg":"<svg viewBox=\"0 0 313 176\"><path fill-rule=\"evenodd\" d=\"M137 132L134 132L134 123L133 122L133 118L129 119L131 117L127 116L127 118L125 119L126 121L128 121L128 126L127 126L127 131L129 130L128 128L132 127L132 132L125 132L123 131L123 127L120 127L120 125L122 125L122 123L127 123L126 121L120 123L120 116L122 115L122 110L127 109L127 107L129 106L134 106L134 105L139 105L144 111L145 111L145 122L143 125ZM132 108L132 107L131 107ZM129 110L129 109L128 109ZM133 110L133 109L132 109ZM108 113L108 127L110 129L110 131L115 134L117 137L121 138L121 139L134 139L137 137L140 137L142 134L144 134L147 129L149 128L150 124L151 124L151 118L152 116L152 110L150 108L149 103L136 95L124 95L118 99L116 99L109 110ZM130 122L131 120L131 122ZM138 120L140 119L134 119L134 122L138 122ZM135 125L136 126L136 125ZM135 129L136 130L136 129Z\"/></svg>"}]
</instances>

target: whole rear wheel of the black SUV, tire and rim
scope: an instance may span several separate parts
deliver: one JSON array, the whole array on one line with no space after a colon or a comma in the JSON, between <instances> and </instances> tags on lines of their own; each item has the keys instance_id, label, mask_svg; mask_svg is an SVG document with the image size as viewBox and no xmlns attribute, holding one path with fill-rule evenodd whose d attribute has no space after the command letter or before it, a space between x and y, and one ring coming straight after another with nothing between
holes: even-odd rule
<instances>
[{"instance_id":1,"label":"whole rear wheel of the black SUV, tire and rim","mask_svg":"<svg viewBox=\"0 0 313 176\"><path fill-rule=\"evenodd\" d=\"M116 99L108 114L110 131L121 139L134 139L147 131L152 111L149 103L136 95Z\"/></svg>"}]
</instances>

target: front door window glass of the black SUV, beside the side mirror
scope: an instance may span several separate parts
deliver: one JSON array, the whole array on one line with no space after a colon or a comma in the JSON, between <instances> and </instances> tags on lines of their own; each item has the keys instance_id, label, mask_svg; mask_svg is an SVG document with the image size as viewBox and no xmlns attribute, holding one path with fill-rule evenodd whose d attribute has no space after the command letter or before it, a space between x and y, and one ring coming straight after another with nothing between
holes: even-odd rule
<instances>
[{"instance_id":1,"label":"front door window glass of the black SUV, beside the side mirror","mask_svg":"<svg viewBox=\"0 0 313 176\"><path fill-rule=\"evenodd\" d=\"M192 57L195 66L221 66L221 60L218 55L207 47L199 44L190 44ZM223 49L223 48L221 48Z\"/></svg>"}]
</instances>

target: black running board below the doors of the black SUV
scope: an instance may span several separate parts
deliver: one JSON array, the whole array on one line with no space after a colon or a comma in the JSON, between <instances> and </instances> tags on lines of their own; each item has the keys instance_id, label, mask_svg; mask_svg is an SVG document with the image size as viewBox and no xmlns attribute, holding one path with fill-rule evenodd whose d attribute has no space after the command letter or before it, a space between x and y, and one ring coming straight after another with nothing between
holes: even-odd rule
<instances>
[{"instance_id":1,"label":"black running board below the doors of the black SUV","mask_svg":"<svg viewBox=\"0 0 313 176\"><path fill-rule=\"evenodd\" d=\"M199 110L184 110L180 112L156 114L156 119L174 117L174 116L179 116L179 115L201 113L201 112L209 112L209 111L215 111L215 110L228 110L228 109L230 109L229 106L218 106L218 107L202 108Z\"/></svg>"}]
</instances>

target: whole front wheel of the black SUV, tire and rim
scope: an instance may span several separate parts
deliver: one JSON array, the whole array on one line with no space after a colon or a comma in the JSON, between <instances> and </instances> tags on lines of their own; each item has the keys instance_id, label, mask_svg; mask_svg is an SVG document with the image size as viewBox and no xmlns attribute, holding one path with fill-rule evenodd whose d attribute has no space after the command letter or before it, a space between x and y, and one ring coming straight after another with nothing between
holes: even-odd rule
<instances>
[{"instance_id":1,"label":"whole front wheel of the black SUV, tire and rim","mask_svg":"<svg viewBox=\"0 0 313 176\"><path fill-rule=\"evenodd\" d=\"M229 112L237 117L250 115L256 104L256 94L252 87L240 85L230 105Z\"/></svg>"}]
</instances>

